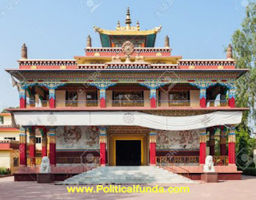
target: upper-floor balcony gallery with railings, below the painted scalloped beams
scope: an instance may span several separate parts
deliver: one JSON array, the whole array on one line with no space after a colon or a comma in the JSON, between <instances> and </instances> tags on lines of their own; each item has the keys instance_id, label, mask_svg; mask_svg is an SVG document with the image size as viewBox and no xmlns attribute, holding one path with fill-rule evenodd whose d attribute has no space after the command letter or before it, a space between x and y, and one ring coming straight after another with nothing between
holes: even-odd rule
<instances>
[{"instance_id":1,"label":"upper-floor balcony gallery with railings, below the painted scalloped beams","mask_svg":"<svg viewBox=\"0 0 256 200\"><path fill-rule=\"evenodd\" d=\"M104 89L63 84L54 95L50 92L38 85L27 88L25 108L234 108L230 90L221 84L207 89L194 84L170 84L157 89L145 84L113 84Z\"/></svg>"}]
</instances>

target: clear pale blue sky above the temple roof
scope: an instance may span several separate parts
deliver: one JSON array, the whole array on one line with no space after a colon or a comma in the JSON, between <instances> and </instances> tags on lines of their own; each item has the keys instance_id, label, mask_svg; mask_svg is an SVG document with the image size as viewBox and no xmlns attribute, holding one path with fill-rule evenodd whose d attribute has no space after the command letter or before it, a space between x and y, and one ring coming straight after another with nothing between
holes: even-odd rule
<instances>
[{"instance_id":1,"label":"clear pale blue sky above the temple roof","mask_svg":"<svg viewBox=\"0 0 256 200\"><path fill-rule=\"evenodd\" d=\"M17 69L26 42L30 58L73 58L84 55L86 37L99 47L93 26L115 29L130 6L141 29L162 25L156 46L170 37L173 55L183 58L225 58L234 30L240 27L245 6L252 0L1 0L0 109L18 106L18 92L4 69Z\"/></svg>"}]
</instances>

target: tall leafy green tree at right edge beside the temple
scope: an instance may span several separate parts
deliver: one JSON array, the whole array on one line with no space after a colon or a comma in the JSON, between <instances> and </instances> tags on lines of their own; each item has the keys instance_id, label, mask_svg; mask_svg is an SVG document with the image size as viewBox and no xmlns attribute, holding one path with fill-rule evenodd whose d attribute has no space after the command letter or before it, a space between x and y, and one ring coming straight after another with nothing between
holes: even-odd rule
<instances>
[{"instance_id":1,"label":"tall leafy green tree at right edge beside the temple","mask_svg":"<svg viewBox=\"0 0 256 200\"><path fill-rule=\"evenodd\" d=\"M251 110L244 112L240 127L248 130L248 120L255 118L255 94L256 94L256 2L251 2L246 8L241 29L234 32L232 45L234 59L238 69L250 69L237 81L236 104L238 107L250 107ZM255 122L254 122L255 123Z\"/></svg>"}]
</instances>

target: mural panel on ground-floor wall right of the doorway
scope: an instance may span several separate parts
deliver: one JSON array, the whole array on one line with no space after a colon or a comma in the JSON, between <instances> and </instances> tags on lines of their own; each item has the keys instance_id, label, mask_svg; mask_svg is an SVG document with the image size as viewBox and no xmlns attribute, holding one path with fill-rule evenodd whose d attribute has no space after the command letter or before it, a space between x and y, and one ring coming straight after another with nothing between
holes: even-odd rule
<instances>
[{"instance_id":1,"label":"mural panel on ground-floor wall right of the doorway","mask_svg":"<svg viewBox=\"0 0 256 200\"><path fill-rule=\"evenodd\" d=\"M157 149L198 149L199 130L161 131L158 130Z\"/></svg>"}]
</instances>

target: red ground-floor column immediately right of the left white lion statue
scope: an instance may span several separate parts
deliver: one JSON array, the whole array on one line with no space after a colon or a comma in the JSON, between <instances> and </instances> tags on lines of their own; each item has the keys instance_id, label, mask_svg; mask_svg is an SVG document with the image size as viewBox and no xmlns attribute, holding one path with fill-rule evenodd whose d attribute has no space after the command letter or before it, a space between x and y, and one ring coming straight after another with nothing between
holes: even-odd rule
<instances>
[{"instance_id":1,"label":"red ground-floor column immediately right of the left white lion statue","mask_svg":"<svg viewBox=\"0 0 256 200\"><path fill-rule=\"evenodd\" d=\"M50 165L56 166L56 135L55 135L55 127L50 127L48 131L50 148L49 148L49 159Z\"/></svg>"}]
</instances>

